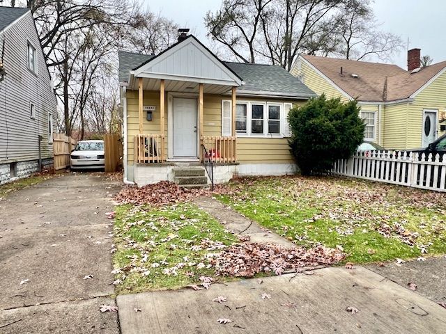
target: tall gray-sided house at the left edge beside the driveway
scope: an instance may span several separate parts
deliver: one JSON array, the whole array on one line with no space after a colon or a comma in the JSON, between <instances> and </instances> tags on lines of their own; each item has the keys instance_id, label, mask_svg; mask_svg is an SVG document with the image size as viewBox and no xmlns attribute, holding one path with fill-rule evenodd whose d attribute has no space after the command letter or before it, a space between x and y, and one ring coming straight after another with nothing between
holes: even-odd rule
<instances>
[{"instance_id":1,"label":"tall gray-sided house at the left edge beside the driveway","mask_svg":"<svg viewBox=\"0 0 446 334\"><path fill-rule=\"evenodd\" d=\"M0 7L0 184L53 164L56 96L29 8Z\"/></svg>"}]
</instances>

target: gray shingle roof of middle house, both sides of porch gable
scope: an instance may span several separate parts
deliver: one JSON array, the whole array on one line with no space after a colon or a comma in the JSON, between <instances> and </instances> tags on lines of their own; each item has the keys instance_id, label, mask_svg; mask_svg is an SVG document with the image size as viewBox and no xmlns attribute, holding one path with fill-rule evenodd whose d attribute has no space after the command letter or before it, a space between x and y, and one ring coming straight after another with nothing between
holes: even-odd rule
<instances>
[{"instance_id":1,"label":"gray shingle roof of middle house, both sides of porch gable","mask_svg":"<svg viewBox=\"0 0 446 334\"><path fill-rule=\"evenodd\" d=\"M138 67L154 56L119 51L119 81L127 82L130 70ZM240 90L264 92L266 95L307 97L316 95L283 67L261 64L224 62L233 72L245 81Z\"/></svg>"}]
</instances>

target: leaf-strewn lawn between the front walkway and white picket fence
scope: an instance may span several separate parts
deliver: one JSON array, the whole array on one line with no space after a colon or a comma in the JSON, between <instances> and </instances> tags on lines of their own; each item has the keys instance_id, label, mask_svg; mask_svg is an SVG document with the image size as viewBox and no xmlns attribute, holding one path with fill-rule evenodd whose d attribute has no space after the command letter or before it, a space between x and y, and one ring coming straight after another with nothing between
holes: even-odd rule
<instances>
[{"instance_id":1,"label":"leaf-strewn lawn between the front walkway and white picket fence","mask_svg":"<svg viewBox=\"0 0 446 334\"><path fill-rule=\"evenodd\" d=\"M322 244L347 261L446 253L443 193L334 177L260 177L232 182L220 200L295 244ZM420 259L422 260L422 259Z\"/></svg>"}]
</instances>

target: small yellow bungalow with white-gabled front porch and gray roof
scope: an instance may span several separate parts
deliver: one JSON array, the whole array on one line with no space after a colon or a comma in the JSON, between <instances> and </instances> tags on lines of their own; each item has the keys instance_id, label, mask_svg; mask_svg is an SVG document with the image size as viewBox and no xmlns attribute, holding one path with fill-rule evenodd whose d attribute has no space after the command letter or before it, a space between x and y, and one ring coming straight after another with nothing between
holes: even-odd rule
<instances>
[{"instance_id":1,"label":"small yellow bungalow with white-gabled front porch and gray roof","mask_svg":"<svg viewBox=\"0 0 446 334\"><path fill-rule=\"evenodd\" d=\"M119 53L125 180L206 183L295 172L286 116L315 94L279 66L223 62L193 35Z\"/></svg>"}]
</instances>

